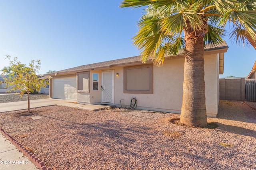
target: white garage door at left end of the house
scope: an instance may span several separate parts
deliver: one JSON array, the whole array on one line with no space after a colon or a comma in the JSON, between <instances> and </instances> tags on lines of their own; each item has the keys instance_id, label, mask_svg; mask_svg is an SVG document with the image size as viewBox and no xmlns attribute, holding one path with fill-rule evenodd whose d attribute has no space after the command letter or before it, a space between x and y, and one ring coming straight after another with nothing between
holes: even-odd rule
<instances>
[{"instance_id":1,"label":"white garage door at left end of the house","mask_svg":"<svg viewBox=\"0 0 256 170\"><path fill-rule=\"evenodd\" d=\"M76 77L53 79L52 98L77 100Z\"/></svg>"}]
</instances>

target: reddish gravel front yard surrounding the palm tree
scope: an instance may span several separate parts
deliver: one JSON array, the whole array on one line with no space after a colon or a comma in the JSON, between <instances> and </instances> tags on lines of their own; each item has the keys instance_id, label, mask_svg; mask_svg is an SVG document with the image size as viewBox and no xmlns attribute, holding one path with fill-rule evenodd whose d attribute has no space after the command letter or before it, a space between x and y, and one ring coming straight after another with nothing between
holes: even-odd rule
<instances>
[{"instance_id":1,"label":"reddish gravel front yard surrounding the palm tree","mask_svg":"<svg viewBox=\"0 0 256 170\"><path fill-rule=\"evenodd\" d=\"M256 111L246 104L220 101L218 118L208 118L216 129L170 122L177 117L49 106L1 113L0 127L56 170L256 169Z\"/></svg>"}]
</instances>

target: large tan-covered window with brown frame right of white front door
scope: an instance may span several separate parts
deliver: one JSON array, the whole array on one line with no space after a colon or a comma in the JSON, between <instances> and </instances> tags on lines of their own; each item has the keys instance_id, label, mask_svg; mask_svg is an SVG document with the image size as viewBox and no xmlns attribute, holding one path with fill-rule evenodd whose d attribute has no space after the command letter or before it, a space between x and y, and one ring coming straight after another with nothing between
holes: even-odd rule
<instances>
[{"instance_id":1,"label":"large tan-covered window with brown frame right of white front door","mask_svg":"<svg viewBox=\"0 0 256 170\"><path fill-rule=\"evenodd\" d=\"M153 93L153 65L124 67L124 93Z\"/></svg>"}]
</instances>

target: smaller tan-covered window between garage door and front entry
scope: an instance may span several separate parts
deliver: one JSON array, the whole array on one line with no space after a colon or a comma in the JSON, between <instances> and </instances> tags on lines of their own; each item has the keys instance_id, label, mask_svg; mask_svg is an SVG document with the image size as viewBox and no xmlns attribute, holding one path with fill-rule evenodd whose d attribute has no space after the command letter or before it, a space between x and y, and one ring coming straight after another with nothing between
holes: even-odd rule
<instances>
[{"instance_id":1,"label":"smaller tan-covered window between garage door and front entry","mask_svg":"<svg viewBox=\"0 0 256 170\"><path fill-rule=\"evenodd\" d=\"M90 72L78 73L78 92L90 92Z\"/></svg>"}]
</instances>

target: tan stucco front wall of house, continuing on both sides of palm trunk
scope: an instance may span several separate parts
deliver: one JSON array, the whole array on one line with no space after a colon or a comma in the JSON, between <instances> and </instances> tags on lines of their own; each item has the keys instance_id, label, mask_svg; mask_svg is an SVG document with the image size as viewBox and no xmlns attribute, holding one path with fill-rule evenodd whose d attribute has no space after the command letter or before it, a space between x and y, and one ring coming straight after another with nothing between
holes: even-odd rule
<instances>
[{"instance_id":1,"label":"tan stucco front wall of house, continuing on both sides of palm trunk","mask_svg":"<svg viewBox=\"0 0 256 170\"><path fill-rule=\"evenodd\" d=\"M216 117L218 112L218 63L218 55L205 56L206 111L209 117ZM123 66L106 70L114 70L114 104L116 106L120 106L120 100L122 100L122 105L128 107L131 99L135 97L138 101L137 109L180 113L183 94L184 58L167 59L164 62L164 66L153 66L153 94L124 93ZM78 102L101 103L102 71L104 70L90 71L91 78L93 73L99 74L99 90L92 90L92 80L90 80L90 93L78 93ZM119 76L116 76L116 73Z\"/></svg>"}]
</instances>

